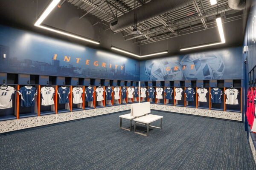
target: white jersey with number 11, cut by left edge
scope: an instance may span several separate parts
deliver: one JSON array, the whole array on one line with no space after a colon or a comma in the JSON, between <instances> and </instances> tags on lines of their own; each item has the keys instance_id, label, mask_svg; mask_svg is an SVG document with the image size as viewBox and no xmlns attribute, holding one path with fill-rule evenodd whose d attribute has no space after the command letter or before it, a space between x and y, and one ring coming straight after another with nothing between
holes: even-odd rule
<instances>
[{"instance_id":1,"label":"white jersey with number 11, cut by left edge","mask_svg":"<svg viewBox=\"0 0 256 170\"><path fill-rule=\"evenodd\" d=\"M12 108L12 94L15 91L11 86L0 87L0 109Z\"/></svg>"}]
</instances>

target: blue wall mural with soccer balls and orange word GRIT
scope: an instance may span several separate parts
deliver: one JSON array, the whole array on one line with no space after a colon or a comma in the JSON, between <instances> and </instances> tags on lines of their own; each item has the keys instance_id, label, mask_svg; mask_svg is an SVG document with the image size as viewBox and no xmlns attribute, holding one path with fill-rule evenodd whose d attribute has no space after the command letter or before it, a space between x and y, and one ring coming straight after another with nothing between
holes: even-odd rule
<instances>
[{"instance_id":1,"label":"blue wall mural with soccer balls and orange word GRIT","mask_svg":"<svg viewBox=\"0 0 256 170\"><path fill-rule=\"evenodd\" d=\"M140 62L140 80L242 79L242 48Z\"/></svg>"}]
</instances>

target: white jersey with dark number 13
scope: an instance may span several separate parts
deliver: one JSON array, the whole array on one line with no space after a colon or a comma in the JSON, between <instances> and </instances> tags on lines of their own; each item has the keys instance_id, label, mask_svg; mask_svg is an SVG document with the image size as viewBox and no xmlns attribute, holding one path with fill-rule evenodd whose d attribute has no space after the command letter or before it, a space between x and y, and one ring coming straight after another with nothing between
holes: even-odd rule
<instances>
[{"instance_id":1,"label":"white jersey with dark number 13","mask_svg":"<svg viewBox=\"0 0 256 170\"><path fill-rule=\"evenodd\" d=\"M41 95L42 95L42 105L49 106L54 105L53 101L53 94L55 94L55 89L53 87L44 86L41 88Z\"/></svg>"}]
</instances>

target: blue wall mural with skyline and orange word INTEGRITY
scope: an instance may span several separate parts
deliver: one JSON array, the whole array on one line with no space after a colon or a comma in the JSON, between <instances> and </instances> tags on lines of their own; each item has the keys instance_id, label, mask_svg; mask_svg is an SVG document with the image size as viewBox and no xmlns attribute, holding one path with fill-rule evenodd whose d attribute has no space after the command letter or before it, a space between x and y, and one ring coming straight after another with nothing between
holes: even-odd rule
<instances>
[{"instance_id":1,"label":"blue wall mural with skyline and orange word INTEGRITY","mask_svg":"<svg viewBox=\"0 0 256 170\"><path fill-rule=\"evenodd\" d=\"M140 62L0 25L0 72L135 80Z\"/></svg>"}]
</instances>

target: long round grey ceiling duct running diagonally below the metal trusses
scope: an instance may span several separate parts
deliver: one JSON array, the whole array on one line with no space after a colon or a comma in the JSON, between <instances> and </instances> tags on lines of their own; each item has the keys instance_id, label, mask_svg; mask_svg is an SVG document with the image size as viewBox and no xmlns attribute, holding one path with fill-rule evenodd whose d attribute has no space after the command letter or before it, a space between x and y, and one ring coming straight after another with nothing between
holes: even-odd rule
<instances>
[{"instance_id":1,"label":"long round grey ceiling duct running diagonally below the metal trusses","mask_svg":"<svg viewBox=\"0 0 256 170\"><path fill-rule=\"evenodd\" d=\"M185 6L194 0L152 0L137 8L137 23L141 23L157 15L164 14L175 8ZM134 10L111 20L109 25L112 31L117 32L134 24Z\"/></svg>"}]
</instances>

